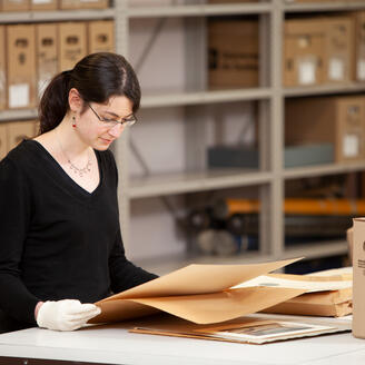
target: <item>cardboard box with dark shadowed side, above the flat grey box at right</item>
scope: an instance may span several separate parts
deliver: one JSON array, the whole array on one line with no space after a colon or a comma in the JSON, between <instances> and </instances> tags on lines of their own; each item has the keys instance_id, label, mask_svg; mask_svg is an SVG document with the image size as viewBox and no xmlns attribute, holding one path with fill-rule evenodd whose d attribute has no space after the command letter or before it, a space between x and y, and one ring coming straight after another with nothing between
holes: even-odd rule
<instances>
[{"instance_id":1,"label":"cardboard box with dark shadowed side, above the flat grey box at right","mask_svg":"<svg viewBox=\"0 0 365 365\"><path fill-rule=\"evenodd\" d=\"M365 98L327 97L287 100L285 144L335 144L335 161L365 158Z\"/></svg>"}]
</instances>

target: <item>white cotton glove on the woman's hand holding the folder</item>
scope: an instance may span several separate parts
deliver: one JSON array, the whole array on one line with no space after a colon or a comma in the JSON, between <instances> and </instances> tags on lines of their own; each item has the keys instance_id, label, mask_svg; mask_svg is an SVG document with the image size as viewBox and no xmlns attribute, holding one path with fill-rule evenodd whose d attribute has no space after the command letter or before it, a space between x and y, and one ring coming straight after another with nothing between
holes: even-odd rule
<instances>
[{"instance_id":1,"label":"white cotton glove on the woman's hand holding the folder","mask_svg":"<svg viewBox=\"0 0 365 365\"><path fill-rule=\"evenodd\" d=\"M38 310L37 324L48 329L73 331L100 313L99 307L89 303L81 304L75 299L48 300Z\"/></svg>"}]
</instances>

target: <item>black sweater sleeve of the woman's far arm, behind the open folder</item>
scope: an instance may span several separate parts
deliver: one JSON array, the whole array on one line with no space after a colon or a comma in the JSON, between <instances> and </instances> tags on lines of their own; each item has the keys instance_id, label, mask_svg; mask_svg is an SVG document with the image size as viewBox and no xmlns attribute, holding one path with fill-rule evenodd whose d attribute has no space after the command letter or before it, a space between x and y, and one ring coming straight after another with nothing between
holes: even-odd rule
<instances>
[{"instance_id":1,"label":"black sweater sleeve of the woman's far arm, behind the open folder","mask_svg":"<svg viewBox=\"0 0 365 365\"><path fill-rule=\"evenodd\" d=\"M135 266L126 258L120 229L117 233L117 238L109 257L109 273L111 290L114 293L124 292L157 278L157 275Z\"/></svg>"}]
</instances>

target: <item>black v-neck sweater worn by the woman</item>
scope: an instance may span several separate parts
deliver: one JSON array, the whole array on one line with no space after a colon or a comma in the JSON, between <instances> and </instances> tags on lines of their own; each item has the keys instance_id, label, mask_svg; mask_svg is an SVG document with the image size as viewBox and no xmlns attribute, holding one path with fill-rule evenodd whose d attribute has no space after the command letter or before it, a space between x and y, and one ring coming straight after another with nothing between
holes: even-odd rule
<instances>
[{"instance_id":1,"label":"black v-neck sweater worn by the woman","mask_svg":"<svg viewBox=\"0 0 365 365\"><path fill-rule=\"evenodd\" d=\"M100 182L90 194L37 141L0 162L0 308L34 325L39 300L95 303L156 276L128 262L121 241L118 172L96 151Z\"/></svg>"}]
</instances>

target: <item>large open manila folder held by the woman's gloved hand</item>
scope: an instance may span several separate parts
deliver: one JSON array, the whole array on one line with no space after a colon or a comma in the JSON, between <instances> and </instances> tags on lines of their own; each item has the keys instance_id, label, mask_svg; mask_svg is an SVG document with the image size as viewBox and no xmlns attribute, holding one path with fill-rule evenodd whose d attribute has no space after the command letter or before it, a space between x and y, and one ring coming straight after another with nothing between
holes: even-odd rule
<instances>
[{"instance_id":1,"label":"large open manila folder held by the woman's gloved hand","mask_svg":"<svg viewBox=\"0 0 365 365\"><path fill-rule=\"evenodd\" d=\"M90 323L121 322L161 310L197 324L238 318L305 293L297 288L231 288L298 259L250 265L189 265L97 302L101 314Z\"/></svg>"}]
</instances>

